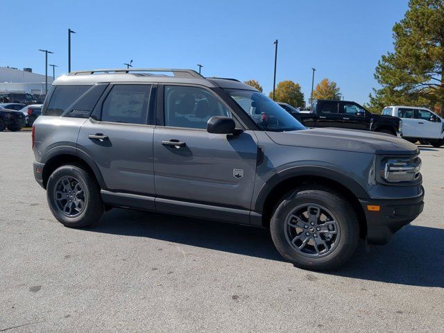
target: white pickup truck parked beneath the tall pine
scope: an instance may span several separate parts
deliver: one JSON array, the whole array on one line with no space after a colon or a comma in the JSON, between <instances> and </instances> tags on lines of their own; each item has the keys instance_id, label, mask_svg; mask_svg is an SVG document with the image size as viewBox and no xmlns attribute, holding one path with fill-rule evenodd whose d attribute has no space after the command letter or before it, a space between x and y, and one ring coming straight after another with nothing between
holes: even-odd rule
<instances>
[{"instance_id":1,"label":"white pickup truck parked beneath the tall pine","mask_svg":"<svg viewBox=\"0 0 444 333\"><path fill-rule=\"evenodd\" d=\"M444 119L429 109L392 105L384 108L382 114L402 119L402 137L409 142L434 147L444 144Z\"/></svg>"}]
</instances>

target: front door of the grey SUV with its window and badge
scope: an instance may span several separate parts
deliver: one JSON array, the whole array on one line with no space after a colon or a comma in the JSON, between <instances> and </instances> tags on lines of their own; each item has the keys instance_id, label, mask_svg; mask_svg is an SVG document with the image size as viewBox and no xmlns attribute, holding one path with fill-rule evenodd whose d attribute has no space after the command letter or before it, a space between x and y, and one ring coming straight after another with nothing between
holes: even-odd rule
<instances>
[{"instance_id":1,"label":"front door of the grey SUV with its window and badge","mask_svg":"<svg viewBox=\"0 0 444 333\"><path fill-rule=\"evenodd\" d=\"M164 126L154 131L157 210L171 211L171 205L182 213L183 207L192 205L250 210L257 156L253 131L239 135L207 133L207 121L212 116L235 121L236 117L204 87L167 85L163 105ZM248 215L244 217L248 223Z\"/></svg>"}]
</instances>

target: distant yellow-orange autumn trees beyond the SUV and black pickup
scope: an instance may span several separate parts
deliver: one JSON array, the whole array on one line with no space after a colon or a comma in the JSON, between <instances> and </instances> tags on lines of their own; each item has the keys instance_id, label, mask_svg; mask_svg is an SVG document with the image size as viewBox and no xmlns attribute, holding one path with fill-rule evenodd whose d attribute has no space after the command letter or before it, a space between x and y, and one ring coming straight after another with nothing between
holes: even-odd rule
<instances>
[{"instance_id":1,"label":"distant yellow-orange autumn trees beyond the SUV and black pickup","mask_svg":"<svg viewBox=\"0 0 444 333\"><path fill-rule=\"evenodd\" d=\"M244 83L255 87L259 92L264 92L262 85L257 80L247 80ZM273 92L270 92L268 96L272 98ZM313 99L341 99L341 92L334 81L324 78L316 85L316 89L313 90ZM275 101L289 103L296 108L305 106L305 96L300 84L292 80L284 80L278 83L275 88ZM309 104L311 104L310 99Z\"/></svg>"}]
</instances>

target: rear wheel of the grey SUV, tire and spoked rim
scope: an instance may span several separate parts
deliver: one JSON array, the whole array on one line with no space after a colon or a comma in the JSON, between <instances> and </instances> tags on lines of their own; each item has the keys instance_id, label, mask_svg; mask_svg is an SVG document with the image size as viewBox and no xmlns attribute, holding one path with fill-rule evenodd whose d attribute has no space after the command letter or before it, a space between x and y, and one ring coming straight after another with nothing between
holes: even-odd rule
<instances>
[{"instance_id":1,"label":"rear wheel of the grey SUV, tire and spoked rim","mask_svg":"<svg viewBox=\"0 0 444 333\"><path fill-rule=\"evenodd\" d=\"M104 210L99 185L78 165L63 165L51 174L46 199L54 217L69 228L91 225Z\"/></svg>"}]
</instances>

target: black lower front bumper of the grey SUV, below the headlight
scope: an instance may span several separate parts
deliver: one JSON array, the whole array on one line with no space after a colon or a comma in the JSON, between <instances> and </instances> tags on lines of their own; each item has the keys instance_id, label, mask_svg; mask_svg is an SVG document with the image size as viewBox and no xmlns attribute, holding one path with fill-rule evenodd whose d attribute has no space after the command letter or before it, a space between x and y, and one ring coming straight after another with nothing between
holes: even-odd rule
<instances>
[{"instance_id":1,"label":"black lower front bumper of the grey SUV, below the headlight","mask_svg":"<svg viewBox=\"0 0 444 333\"><path fill-rule=\"evenodd\" d=\"M416 198L359 200L367 220L367 242L373 245L388 243L393 234L416 219L424 209L424 188ZM368 210L368 205L379 206L379 211Z\"/></svg>"}]
</instances>

